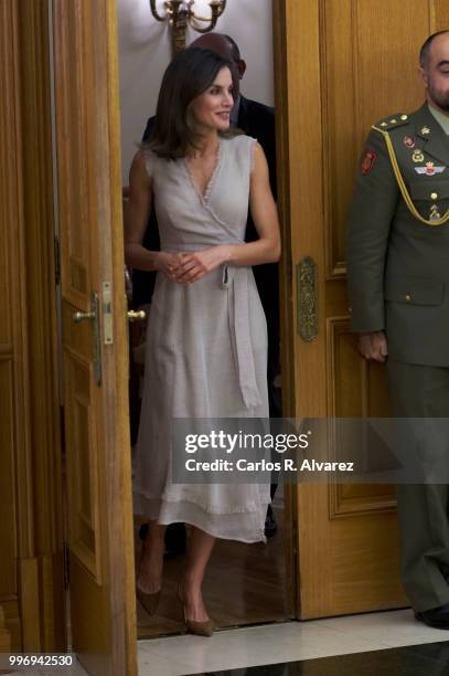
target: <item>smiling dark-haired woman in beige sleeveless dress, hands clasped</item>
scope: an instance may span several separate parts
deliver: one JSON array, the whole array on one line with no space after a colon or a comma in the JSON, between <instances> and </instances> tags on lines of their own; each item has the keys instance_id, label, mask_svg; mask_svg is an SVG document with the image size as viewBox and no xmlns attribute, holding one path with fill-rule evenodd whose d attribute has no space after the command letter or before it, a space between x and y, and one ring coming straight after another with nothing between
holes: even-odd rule
<instances>
[{"instance_id":1,"label":"smiling dark-haired woman in beige sleeveless dress, hands clasped","mask_svg":"<svg viewBox=\"0 0 449 676\"><path fill-rule=\"evenodd\" d=\"M133 158L126 257L158 277L148 323L135 465L135 511L149 521L138 598L156 612L164 529L191 525L179 584L188 629L210 636L202 582L215 538L264 541L269 484L174 484L174 418L268 418L267 331L252 266L280 255L258 142L229 127L233 65L190 47L165 71L156 126ZM141 242L154 201L161 251ZM248 205L259 240L244 242Z\"/></svg>"}]
</instances>

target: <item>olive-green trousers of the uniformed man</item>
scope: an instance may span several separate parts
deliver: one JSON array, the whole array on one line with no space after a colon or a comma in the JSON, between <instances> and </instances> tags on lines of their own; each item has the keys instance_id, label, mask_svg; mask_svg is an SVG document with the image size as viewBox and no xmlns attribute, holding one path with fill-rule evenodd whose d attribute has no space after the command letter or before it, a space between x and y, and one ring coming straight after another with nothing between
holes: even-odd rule
<instances>
[{"instance_id":1,"label":"olive-green trousers of the uniformed man","mask_svg":"<svg viewBox=\"0 0 449 676\"><path fill-rule=\"evenodd\" d=\"M449 418L449 368L388 359L388 380L397 418ZM428 447L431 457L435 443L441 443L441 439L432 441L431 434L425 435L419 452L425 456ZM449 448L449 439L447 444ZM442 476L447 476L446 467ZM397 498L405 592L415 611L449 603L448 486L400 484Z\"/></svg>"}]
</instances>

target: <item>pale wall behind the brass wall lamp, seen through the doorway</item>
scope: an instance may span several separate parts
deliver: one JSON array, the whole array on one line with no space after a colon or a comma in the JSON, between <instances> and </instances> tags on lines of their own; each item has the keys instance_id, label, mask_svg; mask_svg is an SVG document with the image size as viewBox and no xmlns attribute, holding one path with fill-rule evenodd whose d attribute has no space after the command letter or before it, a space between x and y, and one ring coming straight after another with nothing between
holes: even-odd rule
<instances>
[{"instance_id":1,"label":"pale wall behind the brass wall lamp, seen through the doorway","mask_svg":"<svg viewBox=\"0 0 449 676\"><path fill-rule=\"evenodd\" d=\"M141 139L147 118L154 113L162 74L170 61L169 29L152 18L149 4L149 0L117 0L124 184L128 182L136 142ZM197 12L207 15L207 4L206 0L196 0ZM234 38L247 63L243 93L272 105L271 0L228 0L216 30ZM195 36L197 33L190 29L188 42Z\"/></svg>"}]
</instances>

